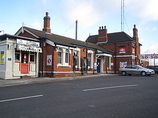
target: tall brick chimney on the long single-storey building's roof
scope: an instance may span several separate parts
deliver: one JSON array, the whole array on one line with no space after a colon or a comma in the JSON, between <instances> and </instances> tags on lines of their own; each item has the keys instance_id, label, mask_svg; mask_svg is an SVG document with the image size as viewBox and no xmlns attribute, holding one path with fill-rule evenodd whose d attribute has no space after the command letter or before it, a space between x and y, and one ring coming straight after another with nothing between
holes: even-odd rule
<instances>
[{"instance_id":1,"label":"tall brick chimney on the long single-storey building's roof","mask_svg":"<svg viewBox=\"0 0 158 118\"><path fill-rule=\"evenodd\" d=\"M51 33L51 29L50 29L50 17L48 16L48 12L46 12L46 16L43 18L43 20L44 20L43 31Z\"/></svg>"}]
</instances>

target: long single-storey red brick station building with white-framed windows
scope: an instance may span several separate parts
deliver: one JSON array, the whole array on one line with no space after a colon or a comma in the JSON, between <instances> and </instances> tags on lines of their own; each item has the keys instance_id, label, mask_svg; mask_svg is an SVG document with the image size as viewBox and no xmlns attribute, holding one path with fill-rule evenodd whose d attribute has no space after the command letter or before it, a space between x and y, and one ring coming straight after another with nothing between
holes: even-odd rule
<instances>
[{"instance_id":1,"label":"long single-storey red brick station building with white-framed windows","mask_svg":"<svg viewBox=\"0 0 158 118\"><path fill-rule=\"evenodd\" d=\"M42 31L21 27L15 34L40 41L39 76L67 77L111 70L113 51L98 44L51 33L50 19L46 12Z\"/></svg>"}]
</instances>

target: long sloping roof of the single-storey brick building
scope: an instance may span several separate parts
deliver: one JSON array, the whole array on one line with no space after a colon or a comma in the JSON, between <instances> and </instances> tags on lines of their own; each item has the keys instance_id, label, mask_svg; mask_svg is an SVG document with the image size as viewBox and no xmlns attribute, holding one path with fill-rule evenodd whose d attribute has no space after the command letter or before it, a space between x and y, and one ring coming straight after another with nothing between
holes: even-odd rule
<instances>
[{"instance_id":1,"label":"long sloping roof of the single-storey brick building","mask_svg":"<svg viewBox=\"0 0 158 118\"><path fill-rule=\"evenodd\" d=\"M38 39L48 39L53 41L55 44L57 45L63 45L63 46L68 46L68 47L83 47L83 48L89 48L89 49L96 49L96 50L100 50L104 53L108 53L108 54L112 54L113 52L111 50L108 50L106 48L102 48L101 46L97 45L97 44L93 44L93 43L89 43L89 42L84 42L84 41L80 41L80 40L75 40L72 38L68 38L65 36L60 36L57 34L53 34L53 33L46 33L44 31L40 31L37 29L32 29L29 27L22 27L23 30L33 34L34 36L38 37ZM21 29L22 29L21 28ZM19 29L19 31L21 30ZM16 33L18 34L18 33Z\"/></svg>"}]
</instances>

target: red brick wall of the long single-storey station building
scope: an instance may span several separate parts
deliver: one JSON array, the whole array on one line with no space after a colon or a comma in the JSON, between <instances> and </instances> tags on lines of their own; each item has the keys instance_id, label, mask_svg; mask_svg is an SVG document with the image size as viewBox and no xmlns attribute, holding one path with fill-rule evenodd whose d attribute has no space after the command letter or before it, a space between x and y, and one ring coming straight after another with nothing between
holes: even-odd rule
<instances>
[{"instance_id":1,"label":"red brick wall of the long single-storey station building","mask_svg":"<svg viewBox=\"0 0 158 118\"><path fill-rule=\"evenodd\" d=\"M19 36L29 37L29 38L36 38L33 35L24 32L21 33ZM70 66L57 66L58 65L58 52L55 50L55 47L47 44L44 40L41 41L41 47L43 47L43 52L40 53L39 59L39 71L40 76L44 77L69 77L75 75L82 75L82 59L86 57L86 48L80 48L80 68L74 71L73 68L73 50L69 54L69 65ZM95 50L93 50L95 51ZM47 55L52 55L52 66L47 66ZM94 53L94 62L96 55ZM106 71L106 63L104 63L104 70ZM94 74L95 71L93 69L88 70L87 74Z\"/></svg>"}]
</instances>

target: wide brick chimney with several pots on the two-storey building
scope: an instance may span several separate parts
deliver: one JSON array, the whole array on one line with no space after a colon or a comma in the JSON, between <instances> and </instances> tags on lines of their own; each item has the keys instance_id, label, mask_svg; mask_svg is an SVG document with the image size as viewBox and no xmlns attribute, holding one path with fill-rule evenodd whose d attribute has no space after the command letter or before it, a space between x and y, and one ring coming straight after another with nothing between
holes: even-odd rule
<instances>
[{"instance_id":1,"label":"wide brick chimney with several pots on the two-storey building","mask_svg":"<svg viewBox=\"0 0 158 118\"><path fill-rule=\"evenodd\" d=\"M106 26L99 27L98 30L98 43L107 42L108 36L107 36L107 29Z\"/></svg>"}]
</instances>

